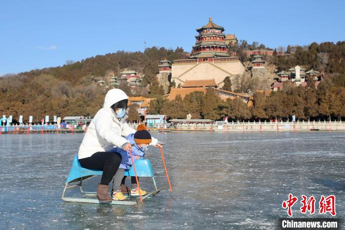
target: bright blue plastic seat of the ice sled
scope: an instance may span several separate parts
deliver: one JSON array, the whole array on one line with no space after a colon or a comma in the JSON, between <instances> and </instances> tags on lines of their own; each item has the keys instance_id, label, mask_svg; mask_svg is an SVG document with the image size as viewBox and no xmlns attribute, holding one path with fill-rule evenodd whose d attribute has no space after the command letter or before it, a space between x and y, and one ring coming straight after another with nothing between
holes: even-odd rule
<instances>
[{"instance_id":1,"label":"bright blue plastic seat of the ice sled","mask_svg":"<svg viewBox=\"0 0 345 230\"><path fill-rule=\"evenodd\" d=\"M138 177L153 177L154 176L151 162L149 159L137 159L134 161L134 163L136 166ZM72 167L69 171L69 176L66 180L66 184L80 181L80 178L83 178L84 180L94 175L102 175L102 174L103 174L102 170L94 170L94 169L87 169L87 168L81 167L78 160L78 155L75 155L73 159ZM133 167L125 171L125 176L135 176Z\"/></svg>"}]
</instances>

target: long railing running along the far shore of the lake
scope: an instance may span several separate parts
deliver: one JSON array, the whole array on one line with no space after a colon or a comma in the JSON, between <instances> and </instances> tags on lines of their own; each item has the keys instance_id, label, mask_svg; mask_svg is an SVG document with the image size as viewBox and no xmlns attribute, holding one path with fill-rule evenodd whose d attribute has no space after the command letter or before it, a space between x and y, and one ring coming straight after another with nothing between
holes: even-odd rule
<instances>
[{"instance_id":1,"label":"long railing running along the far shore of the lake","mask_svg":"<svg viewBox=\"0 0 345 230\"><path fill-rule=\"evenodd\" d=\"M136 129L139 123L129 125ZM85 125L11 125L0 126L1 134L44 134L44 133L77 133L85 132ZM270 122L220 122L210 123L155 123L148 126L149 131L182 132L301 132L301 131L345 131L345 121L270 121Z\"/></svg>"}]
</instances>

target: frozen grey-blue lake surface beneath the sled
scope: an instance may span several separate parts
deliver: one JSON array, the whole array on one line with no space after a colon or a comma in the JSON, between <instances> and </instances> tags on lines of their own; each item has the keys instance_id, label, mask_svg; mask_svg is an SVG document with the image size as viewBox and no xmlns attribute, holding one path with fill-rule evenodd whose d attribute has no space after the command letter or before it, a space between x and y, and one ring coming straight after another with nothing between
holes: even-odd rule
<instances>
[{"instance_id":1,"label":"frozen grey-blue lake surface beneath the sled","mask_svg":"<svg viewBox=\"0 0 345 230\"><path fill-rule=\"evenodd\" d=\"M150 149L162 192L135 206L68 203L64 183L83 134L0 136L0 229L274 229L281 203L301 195L336 196L345 216L345 133L152 133L165 142L173 186ZM85 181L96 190L100 177ZM142 179L142 189L153 190ZM78 189L72 189L75 193Z\"/></svg>"}]
</instances>

